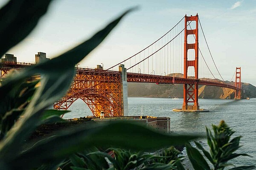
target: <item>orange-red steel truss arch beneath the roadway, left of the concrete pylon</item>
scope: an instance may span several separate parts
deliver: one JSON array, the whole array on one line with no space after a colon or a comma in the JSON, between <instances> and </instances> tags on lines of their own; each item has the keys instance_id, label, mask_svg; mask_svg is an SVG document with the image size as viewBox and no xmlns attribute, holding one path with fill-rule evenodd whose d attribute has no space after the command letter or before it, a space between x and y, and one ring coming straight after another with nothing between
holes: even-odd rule
<instances>
[{"instance_id":1,"label":"orange-red steel truss arch beneath the roadway, left of the concrete pylon","mask_svg":"<svg viewBox=\"0 0 256 170\"><path fill-rule=\"evenodd\" d=\"M123 116L121 74L118 71L78 68L73 84L54 108L67 110L77 99L83 100L94 116Z\"/></svg>"}]
</instances>

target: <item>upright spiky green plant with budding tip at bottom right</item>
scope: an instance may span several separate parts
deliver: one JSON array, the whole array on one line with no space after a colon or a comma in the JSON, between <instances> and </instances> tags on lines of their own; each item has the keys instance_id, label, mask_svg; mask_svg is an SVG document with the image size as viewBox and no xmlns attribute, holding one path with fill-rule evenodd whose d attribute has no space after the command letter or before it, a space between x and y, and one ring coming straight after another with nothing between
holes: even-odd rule
<instances>
[{"instance_id":1,"label":"upright spiky green plant with budding tip at bottom right","mask_svg":"<svg viewBox=\"0 0 256 170\"><path fill-rule=\"evenodd\" d=\"M209 145L210 152L205 150L200 143L195 142L198 149L200 149L204 156L212 163L211 166L207 163L201 153L190 144L186 144L186 151L193 167L196 170L224 170L225 167L233 166L229 170L254 170L256 166L240 166L235 167L229 163L231 159L238 156L249 156L245 153L235 153L239 147L241 136L237 136L231 139L233 131L227 124L222 120L218 126L212 125L213 133L206 127L207 143Z\"/></svg>"}]
</instances>

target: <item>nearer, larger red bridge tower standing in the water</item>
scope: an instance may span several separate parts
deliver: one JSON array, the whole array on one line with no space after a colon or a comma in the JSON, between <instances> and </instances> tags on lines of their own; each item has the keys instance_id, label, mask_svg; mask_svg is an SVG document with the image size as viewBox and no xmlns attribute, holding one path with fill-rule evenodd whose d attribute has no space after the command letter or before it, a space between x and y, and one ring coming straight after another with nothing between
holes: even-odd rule
<instances>
[{"instance_id":1,"label":"nearer, larger red bridge tower standing in the water","mask_svg":"<svg viewBox=\"0 0 256 170\"><path fill-rule=\"evenodd\" d=\"M195 29L187 29L188 22L196 22ZM188 68L195 68L195 79L198 80L195 84L184 84L183 88L183 106L182 110L199 110L198 105L198 14L195 16L187 17L185 15L185 36L184 36L184 78L188 78ZM189 35L193 35L195 37L195 43L188 43L187 39ZM188 59L188 50L194 49L195 51L195 59ZM193 105L189 105L189 103L193 103Z\"/></svg>"}]
</instances>

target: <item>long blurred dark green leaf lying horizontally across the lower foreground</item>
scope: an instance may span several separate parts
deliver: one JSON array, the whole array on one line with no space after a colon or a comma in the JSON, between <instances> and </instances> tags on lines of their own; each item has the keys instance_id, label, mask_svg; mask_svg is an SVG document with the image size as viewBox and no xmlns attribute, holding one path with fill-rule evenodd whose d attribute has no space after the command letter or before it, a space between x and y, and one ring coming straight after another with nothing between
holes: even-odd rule
<instances>
[{"instance_id":1,"label":"long blurred dark green leaf lying horizontally across the lower foreground","mask_svg":"<svg viewBox=\"0 0 256 170\"><path fill-rule=\"evenodd\" d=\"M31 163L27 166L32 166L38 164L38 161L43 163L62 159L70 153L91 146L106 147L114 145L139 150L153 150L173 144L183 144L198 137L201 136L157 133L143 126L125 121L98 126L92 124L87 128L79 127L73 131L63 131L58 136L52 136L38 142L20 156L16 156L13 161L15 161L15 166L21 166L25 160L29 159Z\"/></svg>"}]
</instances>

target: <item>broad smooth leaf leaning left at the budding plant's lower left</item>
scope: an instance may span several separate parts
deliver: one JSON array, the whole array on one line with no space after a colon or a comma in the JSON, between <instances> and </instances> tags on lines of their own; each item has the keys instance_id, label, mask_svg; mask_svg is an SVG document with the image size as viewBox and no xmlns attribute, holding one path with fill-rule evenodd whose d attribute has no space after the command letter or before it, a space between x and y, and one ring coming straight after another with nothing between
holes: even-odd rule
<instances>
[{"instance_id":1,"label":"broad smooth leaf leaning left at the budding plant's lower left","mask_svg":"<svg viewBox=\"0 0 256 170\"><path fill-rule=\"evenodd\" d=\"M195 170L210 170L207 161L204 159L204 157L197 149L192 147L190 144L186 144L185 146L189 160L192 163Z\"/></svg>"}]
</instances>

